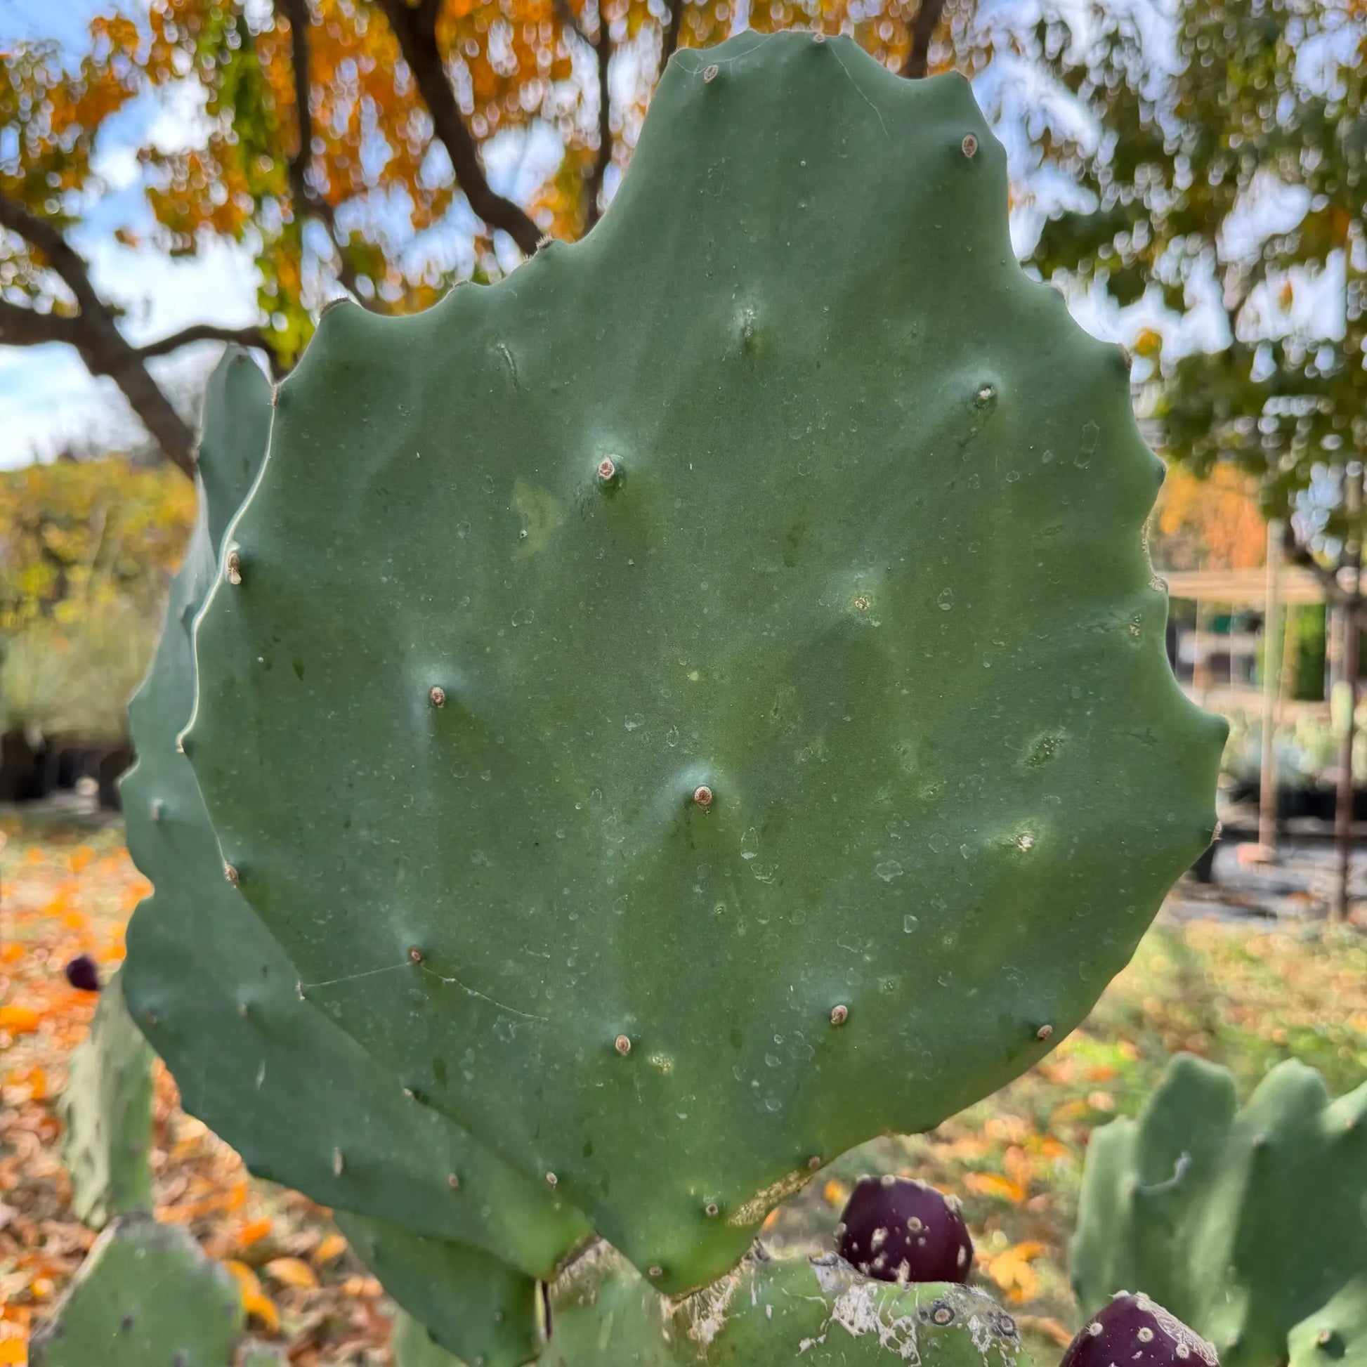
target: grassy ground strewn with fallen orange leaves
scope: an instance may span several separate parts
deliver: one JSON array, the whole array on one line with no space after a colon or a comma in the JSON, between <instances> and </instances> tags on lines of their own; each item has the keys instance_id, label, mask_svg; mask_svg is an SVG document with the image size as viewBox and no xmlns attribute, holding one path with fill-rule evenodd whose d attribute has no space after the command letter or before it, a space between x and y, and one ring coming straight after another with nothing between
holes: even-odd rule
<instances>
[{"instance_id":1,"label":"grassy ground strewn with fallen orange leaves","mask_svg":"<svg viewBox=\"0 0 1367 1367\"><path fill-rule=\"evenodd\" d=\"M71 1214L53 1102L94 998L62 969L87 953L108 973L146 883L116 827L0 823L0 1367L26 1362L46 1314L93 1241ZM1225 923L1159 925L1087 1024L1043 1064L931 1135L850 1154L774 1218L778 1241L830 1240L861 1172L904 1172L964 1199L977 1275L1016 1312L1040 1363L1080 1323L1068 1239L1087 1136L1133 1114L1163 1062L1191 1050L1234 1069L1247 1094L1295 1055L1336 1091L1367 1079L1367 940L1326 947L1304 931ZM387 1363L379 1285L328 1211L249 1177L176 1105L159 1069L157 1215L185 1225L236 1275L257 1337L298 1367Z\"/></svg>"}]
</instances>

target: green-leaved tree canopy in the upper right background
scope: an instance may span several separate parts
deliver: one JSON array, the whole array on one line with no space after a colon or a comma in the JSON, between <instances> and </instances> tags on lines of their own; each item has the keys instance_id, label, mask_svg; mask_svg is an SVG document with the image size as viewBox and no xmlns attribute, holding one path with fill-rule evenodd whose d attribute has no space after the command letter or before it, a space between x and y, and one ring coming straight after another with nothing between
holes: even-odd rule
<instances>
[{"instance_id":1,"label":"green-leaved tree canopy in the upper right background","mask_svg":"<svg viewBox=\"0 0 1367 1367\"><path fill-rule=\"evenodd\" d=\"M1300 558L1331 562L1360 537L1338 489L1367 452L1367 10L1182 0L1172 34L1124 5L1088 27L1032 34L1083 115L1040 133L1038 167L1089 200L1035 262L1166 310L1136 377L1169 457L1247 470Z\"/></svg>"}]
</instances>

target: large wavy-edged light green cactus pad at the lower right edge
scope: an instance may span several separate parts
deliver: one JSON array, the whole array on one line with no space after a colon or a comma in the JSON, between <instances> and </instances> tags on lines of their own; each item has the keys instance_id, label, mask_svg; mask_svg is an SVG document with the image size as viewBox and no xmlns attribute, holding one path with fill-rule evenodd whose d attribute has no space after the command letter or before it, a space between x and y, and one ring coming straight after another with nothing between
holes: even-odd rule
<instances>
[{"instance_id":1,"label":"large wavy-edged light green cactus pad at the lower right edge","mask_svg":"<svg viewBox=\"0 0 1367 1367\"><path fill-rule=\"evenodd\" d=\"M1092 1136L1073 1240L1083 1304L1143 1290L1225 1367L1277 1367L1288 1334L1367 1267L1367 1085L1330 1100L1295 1059L1236 1111L1230 1074L1178 1055L1144 1111Z\"/></svg>"}]
</instances>

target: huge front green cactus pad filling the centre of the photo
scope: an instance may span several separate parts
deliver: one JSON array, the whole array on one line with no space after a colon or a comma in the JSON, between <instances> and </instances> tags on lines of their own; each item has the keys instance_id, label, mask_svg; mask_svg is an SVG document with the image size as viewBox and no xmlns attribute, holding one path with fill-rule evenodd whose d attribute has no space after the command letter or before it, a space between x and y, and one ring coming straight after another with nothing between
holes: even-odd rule
<instances>
[{"instance_id":1,"label":"huge front green cactus pad filling the centre of the photo","mask_svg":"<svg viewBox=\"0 0 1367 1367\"><path fill-rule=\"evenodd\" d=\"M681 1292L1038 1059L1208 842L1159 474L968 83L746 33L584 242L327 313L186 749L305 999Z\"/></svg>"}]
</instances>

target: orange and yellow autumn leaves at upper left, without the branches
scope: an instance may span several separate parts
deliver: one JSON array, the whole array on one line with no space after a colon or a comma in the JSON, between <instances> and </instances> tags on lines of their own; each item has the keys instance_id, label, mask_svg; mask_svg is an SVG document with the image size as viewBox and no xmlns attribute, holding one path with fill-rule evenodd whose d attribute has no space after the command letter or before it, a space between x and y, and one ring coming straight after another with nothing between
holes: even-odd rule
<instances>
[{"instance_id":1,"label":"orange and yellow autumn leaves at upper left, without the branches","mask_svg":"<svg viewBox=\"0 0 1367 1367\"><path fill-rule=\"evenodd\" d=\"M200 87L193 100L202 111L202 137L187 146L149 141L138 149L156 245L172 254L194 253L212 238L249 246L267 339L284 364L308 340L338 279L354 282L372 306L407 312L435 302L470 273L472 262L476 276L503 269L492 230L463 211L452 213L461 187L380 0L303 0L302 7L309 19L308 148L301 148L290 29L297 10L286 0L150 0L134 18L111 0L108 12L92 21L79 63L55 42L0 52L7 78L0 81L0 126L23 130L18 157L0 165L0 193L60 227L77 212L75 195L98 189L92 153L108 118L139 94L179 101L191 83ZM558 138L559 164L540 187L524 185L518 195L530 198L543 232L580 236L595 217L589 201L597 176L606 174L610 191L607 167L630 160L662 45L671 41L670 8L660 0L425 0L422 8L429 7L476 149L483 154L510 133L534 133L543 148L554 148L547 134ZM916 11L917 0L858 7L755 0L748 23L759 31L852 33L878 60L899 68ZM677 45L705 46L730 36L738 11L735 0L703 0L686 4L679 18ZM946 19L940 36L949 31ZM935 66L945 64L945 51L936 48ZM603 60L614 71L611 146L595 171ZM305 205L294 204L301 153ZM442 241L433 236L424 250L424 234ZM461 238L463 247L455 242ZM133 239L123 232L120 241ZM0 257L0 286L70 309L66 288L42 265L31 249L16 246Z\"/></svg>"}]
</instances>

